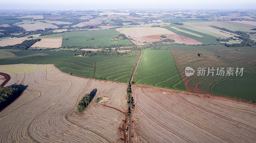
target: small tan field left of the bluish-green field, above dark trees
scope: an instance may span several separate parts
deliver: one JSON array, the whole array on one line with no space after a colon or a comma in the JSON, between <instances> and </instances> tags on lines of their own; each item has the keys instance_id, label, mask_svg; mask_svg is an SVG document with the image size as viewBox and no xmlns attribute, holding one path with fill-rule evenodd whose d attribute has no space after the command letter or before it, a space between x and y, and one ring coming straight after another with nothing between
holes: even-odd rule
<instances>
[{"instance_id":1,"label":"small tan field left of the bluish-green field, above dark trees","mask_svg":"<svg viewBox=\"0 0 256 143\"><path fill-rule=\"evenodd\" d=\"M59 39L41 39L30 47L40 47L40 48L59 48L61 47L62 38Z\"/></svg>"}]
</instances>

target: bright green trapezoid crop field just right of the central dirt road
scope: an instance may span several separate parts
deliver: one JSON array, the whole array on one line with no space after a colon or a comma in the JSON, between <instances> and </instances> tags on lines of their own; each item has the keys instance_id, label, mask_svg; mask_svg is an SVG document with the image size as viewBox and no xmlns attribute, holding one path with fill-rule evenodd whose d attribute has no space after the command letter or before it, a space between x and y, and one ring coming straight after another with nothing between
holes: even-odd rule
<instances>
[{"instance_id":1,"label":"bright green trapezoid crop field just right of the central dirt road","mask_svg":"<svg viewBox=\"0 0 256 143\"><path fill-rule=\"evenodd\" d=\"M186 91L170 50L144 50L133 81L141 85Z\"/></svg>"}]
</instances>

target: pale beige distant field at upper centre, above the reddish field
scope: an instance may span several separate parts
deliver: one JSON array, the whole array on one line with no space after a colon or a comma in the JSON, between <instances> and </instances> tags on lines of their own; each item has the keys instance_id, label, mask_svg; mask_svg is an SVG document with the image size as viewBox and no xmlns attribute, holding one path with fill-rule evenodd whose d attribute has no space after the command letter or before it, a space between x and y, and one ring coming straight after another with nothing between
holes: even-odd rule
<instances>
[{"instance_id":1,"label":"pale beige distant field at upper centre, above the reddish field","mask_svg":"<svg viewBox=\"0 0 256 143\"><path fill-rule=\"evenodd\" d=\"M128 28L116 28L116 31L124 33L127 37L143 37L157 34L175 34L170 30L160 27L128 27Z\"/></svg>"}]
</instances>

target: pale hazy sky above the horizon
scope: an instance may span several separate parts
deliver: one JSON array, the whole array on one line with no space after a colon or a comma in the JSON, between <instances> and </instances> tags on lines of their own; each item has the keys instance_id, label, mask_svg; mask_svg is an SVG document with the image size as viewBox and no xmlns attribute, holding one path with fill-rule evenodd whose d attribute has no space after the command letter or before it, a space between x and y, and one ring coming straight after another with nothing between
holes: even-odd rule
<instances>
[{"instance_id":1,"label":"pale hazy sky above the horizon","mask_svg":"<svg viewBox=\"0 0 256 143\"><path fill-rule=\"evenodd\" d=\"M256 0L0 0L6 10L256 10Z\"/></svg>"}]
</instances>

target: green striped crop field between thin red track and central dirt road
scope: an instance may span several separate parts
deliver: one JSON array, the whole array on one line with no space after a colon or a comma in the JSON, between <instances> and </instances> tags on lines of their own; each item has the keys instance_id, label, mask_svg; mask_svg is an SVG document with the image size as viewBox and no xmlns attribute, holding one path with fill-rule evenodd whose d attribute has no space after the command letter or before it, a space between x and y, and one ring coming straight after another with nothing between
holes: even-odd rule
<instances>
[{"instance_id":1,"label":"green striped crop field between thin red track and central dirt road","mask_svg":"<svg viewBox=\"0 0 256 143\"><path fill-rule=\"evenodd\" d=\"M92 56L96 59L95 78L116 82L128 82L132 68L136 66L136 57Z\"/></svg>"}]
</instances>

